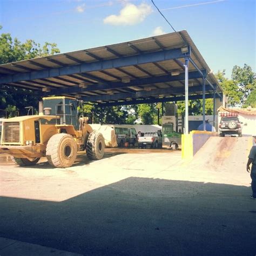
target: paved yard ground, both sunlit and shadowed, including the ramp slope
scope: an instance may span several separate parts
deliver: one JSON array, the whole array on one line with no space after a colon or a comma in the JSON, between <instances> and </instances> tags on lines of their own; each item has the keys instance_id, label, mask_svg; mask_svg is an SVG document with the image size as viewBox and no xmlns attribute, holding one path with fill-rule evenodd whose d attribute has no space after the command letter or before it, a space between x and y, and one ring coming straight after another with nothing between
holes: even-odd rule
<instances>
[{"instance_id":1,"label":"paved yard ground, both sunlit and shadowed, including the ramp slope","mask_svg":"<svg viewBox=\"0 0 256 256\"><path fill-rule=\"evenodd\" d=\"M84 255L255 255L250 140L216 138L224 156L213 141L191 163L117 149L69 169L0 165L0 237Z\"/></svg>"}]
</instances>

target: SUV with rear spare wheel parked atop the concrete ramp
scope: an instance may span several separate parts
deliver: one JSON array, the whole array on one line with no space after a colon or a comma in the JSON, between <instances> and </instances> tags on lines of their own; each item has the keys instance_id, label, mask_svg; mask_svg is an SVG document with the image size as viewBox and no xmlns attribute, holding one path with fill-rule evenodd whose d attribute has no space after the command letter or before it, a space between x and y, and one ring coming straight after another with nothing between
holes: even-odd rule
<instances>
[{"instance_id":1,"label":"SUV with rear spare wheel parked atop the concrete ramp","mask_svg":"<svg viewBox=\"0 0 256 256\"><path fill-rule=\"evenodd\" d=\"M224 137L225 134L238 134L242 137L242 127L238 117L221 117L219 124L219 136Z\"/></svg>"}]
</instances>

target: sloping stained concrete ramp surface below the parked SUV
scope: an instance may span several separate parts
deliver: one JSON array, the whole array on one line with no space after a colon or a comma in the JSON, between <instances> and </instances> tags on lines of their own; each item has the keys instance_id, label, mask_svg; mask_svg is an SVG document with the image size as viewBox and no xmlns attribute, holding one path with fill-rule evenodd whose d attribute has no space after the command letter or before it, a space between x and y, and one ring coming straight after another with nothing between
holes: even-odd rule
<instances>
[{"instance_id":1,"label":"sloping stained concrete ramp surface below the parked SUV","mask_svg":"<svg viewBox=\"0 0 256 256\"><path fill-rule=\"evenodd\" d=\"M211 137L196 153L190 169L209 171L246 171L252 137Z\"/></svg>"}]
</instances>

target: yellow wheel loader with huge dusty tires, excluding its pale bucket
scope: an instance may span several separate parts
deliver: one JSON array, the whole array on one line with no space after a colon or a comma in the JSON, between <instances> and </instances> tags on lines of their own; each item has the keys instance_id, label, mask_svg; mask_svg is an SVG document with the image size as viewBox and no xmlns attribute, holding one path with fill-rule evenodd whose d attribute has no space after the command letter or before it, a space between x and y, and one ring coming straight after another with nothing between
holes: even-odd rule
<instances>
[{"instance_id":1,"label":"yellow wheel loader with huge dusty tires, excluding its pale bucket","mask_svg":"<svg viewBox=\"0 0 256 256\"><path fill-rule=\"evenodd\" d=\"M5 119L0 153L11 154L20 166L35 165L46 157L50 165L59 168L70 167L79 150L86 150L90 159L103 158L103 134L93 130L87 118L78 119L75 98L43 98L43 111L39 115Z\"/></svg>"}]
</instances>

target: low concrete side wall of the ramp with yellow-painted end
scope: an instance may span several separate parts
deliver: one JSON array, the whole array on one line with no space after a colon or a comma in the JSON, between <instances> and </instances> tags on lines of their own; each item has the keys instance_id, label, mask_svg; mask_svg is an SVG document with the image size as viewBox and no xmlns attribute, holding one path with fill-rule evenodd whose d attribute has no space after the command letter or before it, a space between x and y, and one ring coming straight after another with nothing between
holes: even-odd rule
<instances>
[{"instance_id":1,"label":"low concrete side wall of the ramp with yellow-painted end","mask_svg":"<svg viewBox=\"0 0 256 256\"><path fill-rule=\"evenodd\" d=\"M191 131L181 136L181 157L182 159L191 160L193 156L207 142L208 138L216 136L215 132Z\"/></svg>"}]
</instances>

